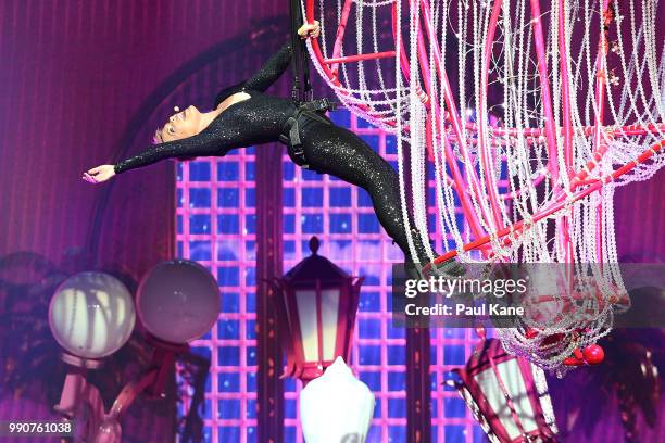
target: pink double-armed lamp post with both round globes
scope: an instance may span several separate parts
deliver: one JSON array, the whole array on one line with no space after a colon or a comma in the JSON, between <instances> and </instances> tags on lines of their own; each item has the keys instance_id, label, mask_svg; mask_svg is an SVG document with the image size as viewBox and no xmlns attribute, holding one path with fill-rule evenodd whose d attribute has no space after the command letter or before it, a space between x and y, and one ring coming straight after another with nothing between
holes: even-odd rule
<instances>
[{"instance_id":1,"label":"pink double-armed lamp post with both round globes","mask_svg":"<svg viewBox=\"0 0 665 443\"><path fill-rule=\"evenodd\" d=\"M80 273L63 282L49 307L49 322L57 341L68 353L70 364L55 410L76 422L75 442L120 443L123 414L146 392L164 396L176 354L204 334L217 319L218 284L196 262L173 260L154 266L141 280L136 312L154 346L150 366L117 395L109 413L96 387L85 378L87 368L99 368L99 358L117 351L135 325L135 304L114 277Z\"/></svg>"}]
</instances>

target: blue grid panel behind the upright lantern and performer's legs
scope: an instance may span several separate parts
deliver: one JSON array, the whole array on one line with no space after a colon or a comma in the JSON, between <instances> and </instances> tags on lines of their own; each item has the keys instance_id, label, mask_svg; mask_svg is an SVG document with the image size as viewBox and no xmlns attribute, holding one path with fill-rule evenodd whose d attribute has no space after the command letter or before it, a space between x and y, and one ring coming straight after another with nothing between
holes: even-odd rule
<instances>
[{"instance_id":1,"label":"blue grid panel behind the upright lantern and performer's legs","mask_svg":"<svg viewBox=\"0 0 665 443\"><path fill-rule=\"evenodd\" d=\"M349 127L385 159L394 163L394 138L368 127L348 111L330 117ZM380 227L369 195L335 177L293 165L284 156L285 270L310 254L317 236L319 254L347 273L365 276L360 296L352 367L376 396L368 442L406 441L405 334L391 327L391 264L402 260L399 248ZM397 165L394 165L397 167ZM300 382L285 389L285 441L302 441L299 426Z\"/></svg>"}]
</instances>

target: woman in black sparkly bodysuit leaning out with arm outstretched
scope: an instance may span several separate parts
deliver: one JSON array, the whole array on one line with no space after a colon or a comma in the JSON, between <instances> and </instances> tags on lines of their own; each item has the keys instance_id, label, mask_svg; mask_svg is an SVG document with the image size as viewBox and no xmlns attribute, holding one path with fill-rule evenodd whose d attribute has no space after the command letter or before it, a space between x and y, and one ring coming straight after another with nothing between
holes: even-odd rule
<instances>
[{"instance_id":1,"label":"woman in black sparkly bodysuit leaning out with arm outstretched","mask_svg":"<svg viewBox=\"0 0 665 443\"><path fill-rule=\"evenodd\" d=\"M318 34L318 22L298 29L302 39L316 38ZM392 166L355 134L335 126L324 114L327 102L314 101L302 107L292 100L264 93L281 76L291 55L291 45L287 43L252 77L223 89L215 99L213 111L202 113L189 106L172 115L155 132L159 144L115 165L93 167L84 173L83 179L100 183L164 159L223 156L236 148L280 140L299 166L365 189L381 226L404 253L409 268L414 267L414 262L429 263L417 232L413 235L417 256L412 257L409 252L399 176ZM451 274L462 273L456 263L439 265L439 269L442 267Z\"/></svg>"}]
</instances>

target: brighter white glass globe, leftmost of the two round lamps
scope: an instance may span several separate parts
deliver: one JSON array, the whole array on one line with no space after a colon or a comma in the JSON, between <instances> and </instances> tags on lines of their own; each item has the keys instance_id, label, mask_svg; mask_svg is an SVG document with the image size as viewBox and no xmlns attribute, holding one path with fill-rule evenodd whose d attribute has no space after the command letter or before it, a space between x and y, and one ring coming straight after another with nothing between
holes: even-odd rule
<instances>
[{"instance_id":1,"label":"brighter white glass globe, leftmost of the two round lamps","mask_svg":"<svg viewBox=\"0 0 665 443\"><path fill-rule=\"evenodd\" d=\"M129 339L136 314L122 281L79 273L63 281L49 305L49 325L62 347L81 358L113 354Z\"/></svg>"}]
</instances>

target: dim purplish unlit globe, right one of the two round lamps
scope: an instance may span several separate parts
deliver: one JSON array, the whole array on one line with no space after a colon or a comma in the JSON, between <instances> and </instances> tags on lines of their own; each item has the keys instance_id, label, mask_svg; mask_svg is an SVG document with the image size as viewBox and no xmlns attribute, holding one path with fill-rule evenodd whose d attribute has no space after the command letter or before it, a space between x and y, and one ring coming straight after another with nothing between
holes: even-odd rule
<instances>
[{"instance_id":1,"label":"dim purplish unlit globe, right one of the two round lamps","mask_svg":"<svg viewBox=\"0 0 665 443\"><path fill-rule=\"evenodd\" d=\"M136 306L141 324L152 336L170 343L187 343L203 336L217 320L219 287L197 262L163 262L141 280Z\"/></svg>"}]
</instances>

